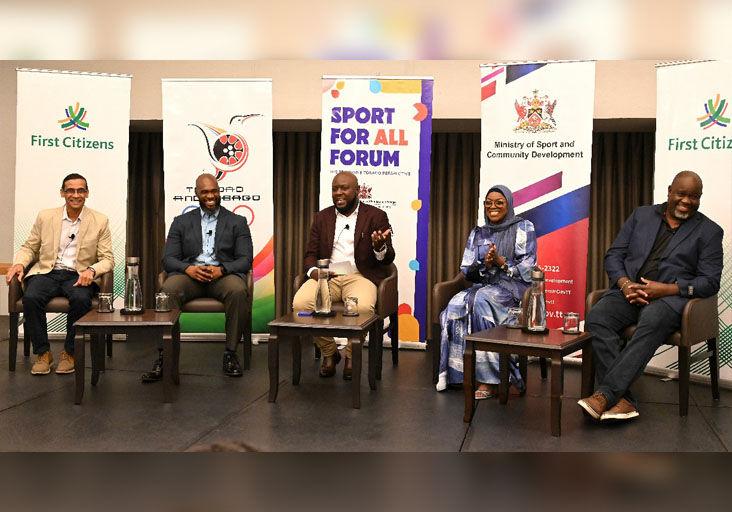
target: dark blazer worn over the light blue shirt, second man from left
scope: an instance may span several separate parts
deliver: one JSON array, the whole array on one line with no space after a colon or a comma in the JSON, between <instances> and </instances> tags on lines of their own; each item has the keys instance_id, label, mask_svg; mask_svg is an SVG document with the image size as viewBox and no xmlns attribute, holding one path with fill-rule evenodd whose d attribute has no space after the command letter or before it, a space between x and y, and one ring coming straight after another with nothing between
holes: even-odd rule
<instances>
[{"instance_id":1,"label":"dark blazer worn over the light blue shirt, second man from left","mask_svg":"<svg viewBox=\"0 0 732 512\"><path fill-rule=\"evenodd\" d=\"M201 209L196 208L173 219L165 241L163 268L170 275L183 274L203 251ZM242 279L252 268L252 236L244 217L219 209L214 238L214 254L227 274Z\"/></svg>"}]
</instances>

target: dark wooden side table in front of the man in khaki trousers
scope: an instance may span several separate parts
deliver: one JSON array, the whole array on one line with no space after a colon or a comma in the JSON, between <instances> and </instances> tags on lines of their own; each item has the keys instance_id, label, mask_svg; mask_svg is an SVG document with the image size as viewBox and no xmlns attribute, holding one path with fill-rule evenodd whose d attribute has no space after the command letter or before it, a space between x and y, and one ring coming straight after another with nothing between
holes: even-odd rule
<instances>
[{"instance_id":1,"label":"dark wooden side table in front of the man in khaki trousers","mask_svg":"<svg viewBox=\"0 0 732 512\"><path fill-rule=\"evenodd\" d=\"M376 389L376 364L380 361L378 356L379 343L375 341L378 335L377 315L343 316L340 312L333 317L319 318L313 316L297 316L291 312L280 318L271 321L269 325L269 343L267 345L269 359L269 401L277 400L280 377L280 356L279 338L289 337L292 339L292 384L300 384L300 365L302 360L302 349L300 346L301 336L334 336L349 338L352 340L353 356L353 382L352 399L353 408L361 408L361 362L363 340L367 332L371 332L369 342L369 387Z\"/></svg>"}]
</instances>

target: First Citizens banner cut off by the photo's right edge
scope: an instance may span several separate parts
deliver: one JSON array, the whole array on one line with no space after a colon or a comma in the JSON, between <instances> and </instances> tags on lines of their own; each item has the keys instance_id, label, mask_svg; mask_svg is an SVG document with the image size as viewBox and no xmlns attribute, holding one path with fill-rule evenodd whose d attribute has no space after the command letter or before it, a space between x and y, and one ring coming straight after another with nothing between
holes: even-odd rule
<instances>
[{"instance_id":1,"label":"First Citizens banner cut off by the photo's right edge","mask_svg":"<svg viewBox=\"0 0 732 512\"><path fill-rule=\"evenodd\" d=\"M724 229L724 269L719 289L720 377L732 380L732 61L679 62L656 69L656 168L654 202L666 201L680 171L701 176L699 210ZM695 354L706 351L697 345ZM709 375L707 359L691 366ZM676 349L662 346L652 366L678 369Z\"/></svg>"}]
</instances>

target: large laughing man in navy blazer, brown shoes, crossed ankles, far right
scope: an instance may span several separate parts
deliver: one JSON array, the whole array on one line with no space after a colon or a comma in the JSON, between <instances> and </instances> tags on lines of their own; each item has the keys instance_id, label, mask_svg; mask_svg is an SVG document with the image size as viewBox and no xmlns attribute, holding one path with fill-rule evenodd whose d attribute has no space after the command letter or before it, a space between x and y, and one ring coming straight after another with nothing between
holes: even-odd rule
<instances>
[{"instance_id":1,"label":"large laughing man in navy blazer, brown shoes, crossed ankles, far right","mask_svg":"<svg viewBox=\"0 0 732 512\"><path fill-rule=\"evenodd\" d=\"M578 403L595 419L639 416L630 385L681 324L693 297L710 297L722 275L722 228L698 212L702 180L678 173L668 201L636 208L605 255L612 288L587 315L596 390ZM621 350L620 333L637 324Z\"/></svg>"}]
</instances>

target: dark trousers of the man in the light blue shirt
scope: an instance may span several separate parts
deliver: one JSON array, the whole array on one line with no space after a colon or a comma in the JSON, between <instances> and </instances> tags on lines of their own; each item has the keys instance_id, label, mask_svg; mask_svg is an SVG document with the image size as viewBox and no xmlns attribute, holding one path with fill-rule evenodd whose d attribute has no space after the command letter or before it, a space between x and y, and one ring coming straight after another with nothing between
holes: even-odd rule
<instances>
[{"instance_id":1,"label":"dark trousers of the man in the light blue shirt","mask_svg":"<svg viewBox=\"0 0 732 512\"><path fill-rule=\"evenodd\" d=\"M187 274L176 274L165 280L162 291L170 295L172 305L177 308L201 297L223 302L226 310L226 350L236 350L244 332L244 311L251 293L241 277L230 274L210 283L201 283Z\"/></svg>"}]
</instances>

